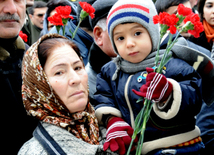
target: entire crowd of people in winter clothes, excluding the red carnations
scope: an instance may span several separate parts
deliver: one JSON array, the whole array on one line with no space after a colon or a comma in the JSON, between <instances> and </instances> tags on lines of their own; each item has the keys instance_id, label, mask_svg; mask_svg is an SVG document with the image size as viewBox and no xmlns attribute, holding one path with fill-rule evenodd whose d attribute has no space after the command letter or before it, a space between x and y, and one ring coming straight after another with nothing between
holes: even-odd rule
<instances>
[{"instance_id":1,"label":"entire crowd of people in winter clothes, excluding the red carnations","mask_svg":"<svg viewBox=\"0 0 214 155\"><path fill-rule=\"evenodd\" d=\"M214 0L80 1L95 17L81 22L73 40L78 0L0 1L3 150L126 154L144 106L139 94L149 94L155 104L142 154L213 154ZM164 73L155 73L160 29L153 17L177 14L179 4L199 15L204 31L199 38L181 33ZM48 21L57 6L72 9L64 36ZM168 40L167 33L160 57Z\"/></svg>"}]
</instances>

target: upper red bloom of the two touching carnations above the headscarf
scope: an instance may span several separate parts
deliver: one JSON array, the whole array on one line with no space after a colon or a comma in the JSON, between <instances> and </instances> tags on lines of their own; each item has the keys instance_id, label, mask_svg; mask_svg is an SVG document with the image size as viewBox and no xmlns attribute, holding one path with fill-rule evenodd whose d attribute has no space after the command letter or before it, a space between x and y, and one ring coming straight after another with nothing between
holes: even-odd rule
<instances>
[{"instance_id":1,"label":"upper red bloom of the two touching carnations above the headscarf","mask_svg":"<svg viewBox=\"0 0 214 155\"><path fill-rule=\"evenodd\" d=\"M58 6L56 7L56 12L63 19L67 19L67 18L73 19L73 17L70 16L71 6Z\"/></svg>"}]
</instances>

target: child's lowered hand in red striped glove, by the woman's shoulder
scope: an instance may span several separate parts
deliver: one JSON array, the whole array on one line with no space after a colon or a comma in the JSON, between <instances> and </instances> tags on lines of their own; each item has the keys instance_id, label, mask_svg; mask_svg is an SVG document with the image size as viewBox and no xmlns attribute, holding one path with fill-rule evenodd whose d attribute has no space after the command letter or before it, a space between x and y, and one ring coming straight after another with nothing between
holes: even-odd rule
<instances>
[{"instance_id":1,"label":"child's lowered hand in red striped glove, by the woman's shoulder","mask_svg":"<svg viewBox=\"0 0 214 155\"><path fill-rule=\"evenodd\" d=\"M125 154L126 146L128 147L131 143L133 132L132 127L122 118L112 118L107 125L106 142L103 145L103 150L106 151L110 147L112 152L119 151L119 154Z\"/></svg>"}]
</instances>

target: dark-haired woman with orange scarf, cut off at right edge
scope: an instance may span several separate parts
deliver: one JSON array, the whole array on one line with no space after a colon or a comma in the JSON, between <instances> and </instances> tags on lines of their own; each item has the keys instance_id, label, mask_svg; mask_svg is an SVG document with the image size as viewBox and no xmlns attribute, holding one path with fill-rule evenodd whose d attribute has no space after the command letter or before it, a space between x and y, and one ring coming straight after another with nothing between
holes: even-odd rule
<instances>
[{"instance_id":1,"label":"dark-haired woman with orange scarf, cut off at right edge","mask_svg":"<svg viewBox=\"0 0 214 155\"><path fill-rule=\"evenodd\" d=\"M214 60L214 0L199 0L198 12L203 22L204 32L199 38L190 38L190 41L198 44L211 52L211 58Z\"/></svg>"}]
</instances>

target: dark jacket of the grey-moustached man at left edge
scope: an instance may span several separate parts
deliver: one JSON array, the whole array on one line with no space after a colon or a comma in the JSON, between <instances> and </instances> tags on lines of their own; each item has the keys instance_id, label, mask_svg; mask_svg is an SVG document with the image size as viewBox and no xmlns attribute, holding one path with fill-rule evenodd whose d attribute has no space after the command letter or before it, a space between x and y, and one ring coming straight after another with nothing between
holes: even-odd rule
<instances>
[{"instance_id":1,"label":"dark jacket of the grey-moustached man at left edge","mask_svg":"<svg viewBox=\"0 0 214 155\"><path fill-rule=\"evenodd\" d=\"M27 116L21 96L22 58L27 49L20 37L0 38L1 141L7 154L17 154L37 125Z\"/></svg>"}]
</instances>

